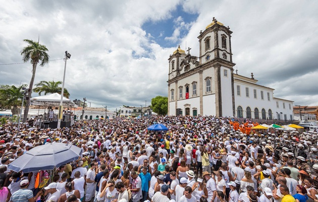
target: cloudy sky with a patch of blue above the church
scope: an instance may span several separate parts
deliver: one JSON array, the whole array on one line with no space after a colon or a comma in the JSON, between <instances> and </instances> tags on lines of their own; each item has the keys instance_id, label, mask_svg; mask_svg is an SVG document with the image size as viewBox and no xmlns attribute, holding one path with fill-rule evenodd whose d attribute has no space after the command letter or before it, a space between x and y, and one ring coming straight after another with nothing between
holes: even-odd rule
<instances>
[{"instance_id":1,"label":"cloudy sky with a patch of blue above the church","mask_svg":"<svg viewBox=\"0 0 318 202\"><path fill-rule=\"evenodd\" d=\"M23 39L48 48L35 83L62 81L92 107L150 104L167 96L168 58L180 45L198 56L197 36L213 17L229 26L238 73L275 88L276 97L318 105L317 1L5 1L0 0L0 84L29 84ZM37 96L33 93L32 96Z\"/></svg>"}]
</instances>

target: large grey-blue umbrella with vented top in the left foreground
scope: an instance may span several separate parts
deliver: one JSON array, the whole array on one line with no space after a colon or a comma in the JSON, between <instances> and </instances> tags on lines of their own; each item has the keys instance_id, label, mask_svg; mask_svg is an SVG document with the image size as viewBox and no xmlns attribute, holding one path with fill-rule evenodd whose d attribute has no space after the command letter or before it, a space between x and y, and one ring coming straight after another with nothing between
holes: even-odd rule
<instances>
[{"instance_id":1,"label":"large grey-blue umbrella with vented top in the left foreground","mask_svg":"<svg viewBox=\"0 0 318 202\"><path fill-rule=\"evenodd\" d=\"M36 146L8 165L8 169L24 173L53 170L71 161L75 161L82 154L82 149L73 144L48 143Z\"/></svg>"}]
</instances>

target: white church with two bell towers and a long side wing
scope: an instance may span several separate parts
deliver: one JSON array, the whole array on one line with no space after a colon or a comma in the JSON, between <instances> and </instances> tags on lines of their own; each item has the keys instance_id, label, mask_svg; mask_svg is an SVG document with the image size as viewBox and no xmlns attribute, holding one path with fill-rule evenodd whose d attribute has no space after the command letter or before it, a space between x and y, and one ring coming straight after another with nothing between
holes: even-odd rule
<instances>
[{"instance_id":1,"label":"white church with two bell towers and a long side wing","mask_svg":"<svg viewBox=\"0 0 318 202\"><path fill-rule=\"evenodd\" d=\"M229 27L217 19L199 33L199 57L178 47L169 57L168 115L293 120L293 101L234 73Z\"/></svg>"}]
</instances>

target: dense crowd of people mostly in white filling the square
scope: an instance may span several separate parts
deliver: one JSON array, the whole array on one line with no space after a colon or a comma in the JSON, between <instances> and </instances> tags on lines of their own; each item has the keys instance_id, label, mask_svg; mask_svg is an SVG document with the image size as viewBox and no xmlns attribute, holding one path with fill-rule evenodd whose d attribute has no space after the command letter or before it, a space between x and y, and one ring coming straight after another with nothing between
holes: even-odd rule
<instances>
[{"instance_id":1,"label":"dense crowd of people mostly in white filling the square","mask_svg":"<svg viewBox=\"0 0 318 202\"><path fill-rule=\"evenodd\" d=\"M149 120L150 119L150 120ZM161 123L168 131L148 131ZM317 131L250 130L250 120L151 116L70 128L0 126L0 201L318 201ZM82 148L54 170L7 167L43 144ZM49 161L49 159L47 160Z\"/></svg>"}]
</instances>

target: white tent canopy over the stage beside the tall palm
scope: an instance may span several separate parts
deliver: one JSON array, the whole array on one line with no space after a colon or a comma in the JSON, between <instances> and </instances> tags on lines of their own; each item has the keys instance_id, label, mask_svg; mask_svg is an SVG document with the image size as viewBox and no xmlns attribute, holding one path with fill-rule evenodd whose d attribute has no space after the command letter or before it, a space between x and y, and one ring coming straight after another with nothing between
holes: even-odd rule
<instances>
[{"instance_id":1,"label":"white tent canopy over the stage beside the tall palm","mask_svg":"<svg viewBox=\"0 0 318 202\"><path fill-rule=\"evenodd\" d=\"M61 102L61 95L59 93L52 93L38 97L32 97L30 99L31 105L40 105L40 106L59 106ZM63 105L74 107L75 104L71 102L70 99L63 96Z\"/></svg>"}]
</instances>

